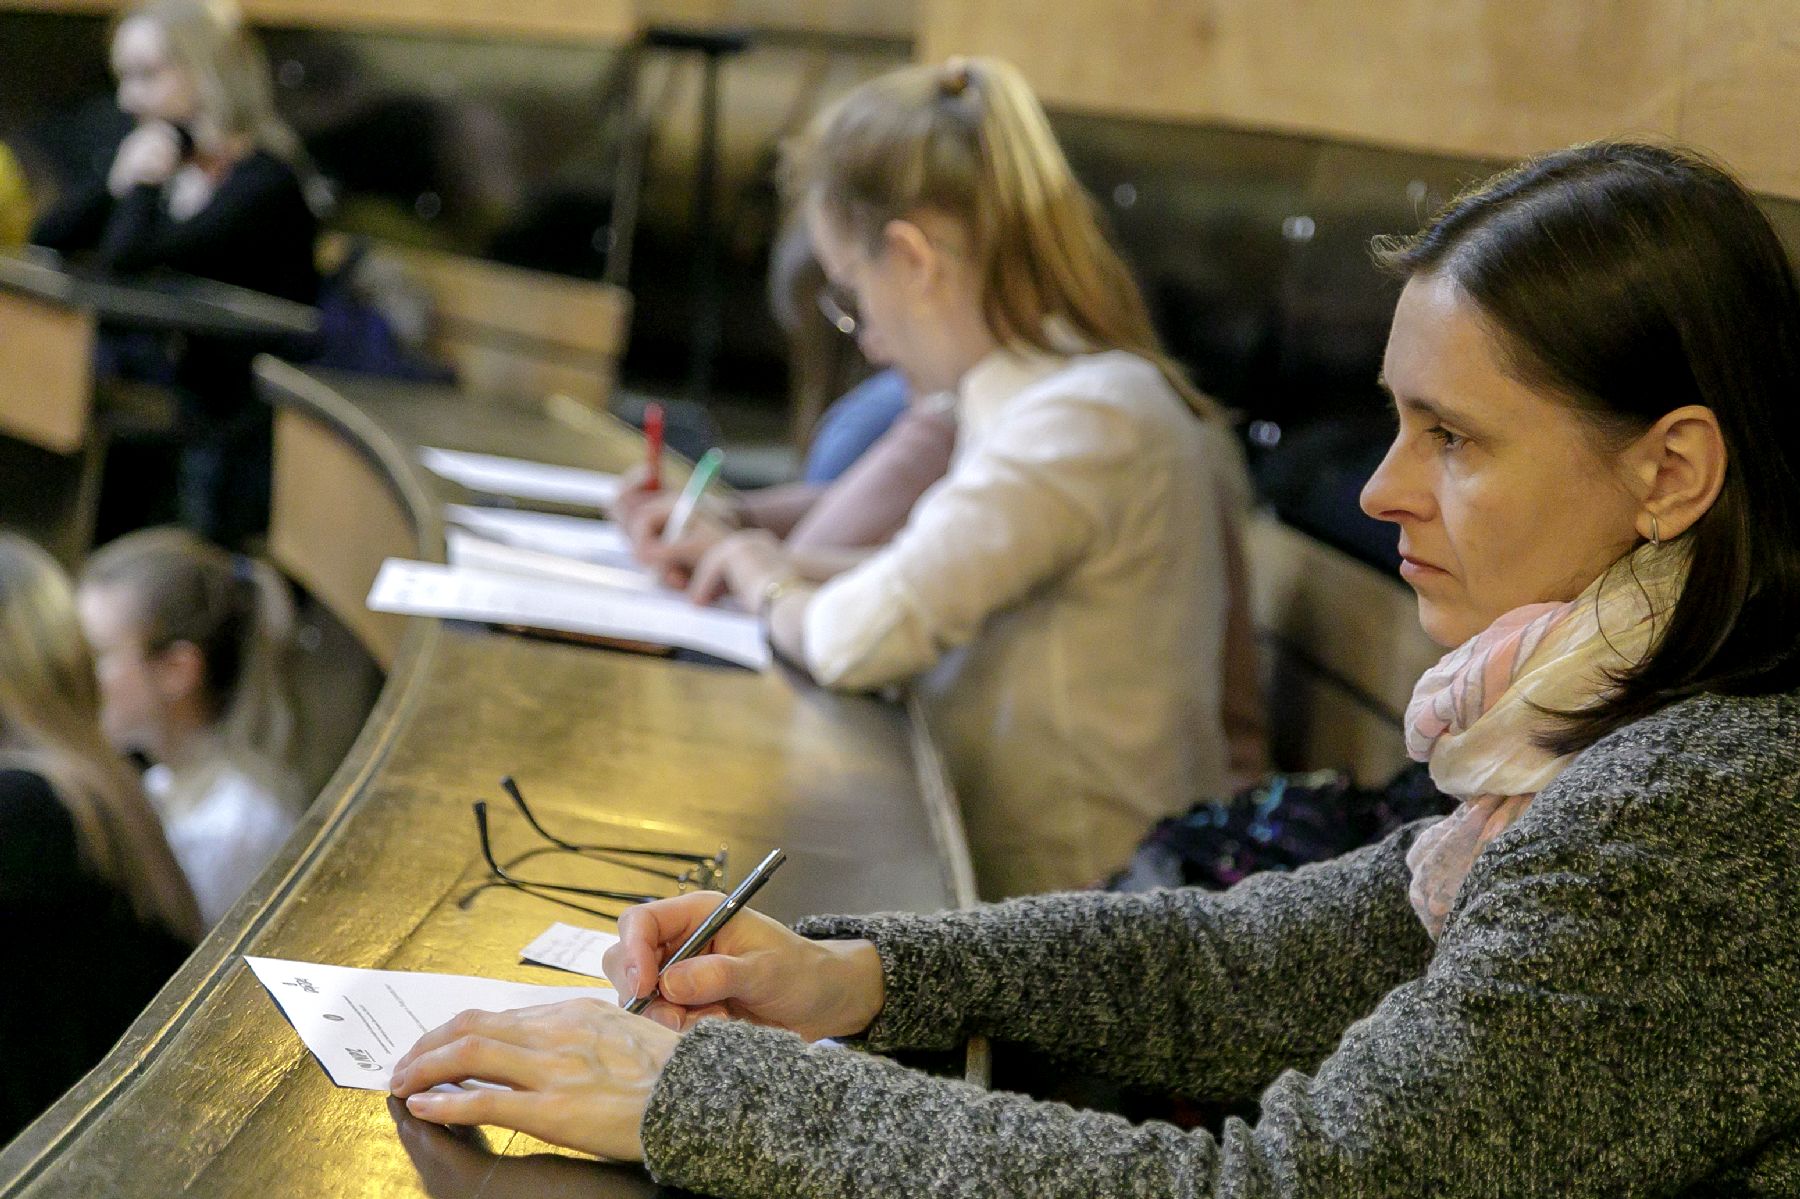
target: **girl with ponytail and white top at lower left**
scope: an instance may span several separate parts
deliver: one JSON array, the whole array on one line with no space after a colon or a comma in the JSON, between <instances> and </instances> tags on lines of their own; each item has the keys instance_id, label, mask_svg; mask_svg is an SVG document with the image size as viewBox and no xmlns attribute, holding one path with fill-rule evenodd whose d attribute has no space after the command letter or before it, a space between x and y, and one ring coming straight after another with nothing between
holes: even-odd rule
<instances>
[{"instance_id":1,"label":"girl with ponytail and white top at lower left","mask_svg":"<svg viewBox=\"0 0 1800 1199\"><path fill-rule=\"evenodd\" d=\"M212 925L301 807L288 760L286 581L185 529L144 529L88 560L79 607L106 736L151 760L144 789Z\"/></svg>"}]
</instances>

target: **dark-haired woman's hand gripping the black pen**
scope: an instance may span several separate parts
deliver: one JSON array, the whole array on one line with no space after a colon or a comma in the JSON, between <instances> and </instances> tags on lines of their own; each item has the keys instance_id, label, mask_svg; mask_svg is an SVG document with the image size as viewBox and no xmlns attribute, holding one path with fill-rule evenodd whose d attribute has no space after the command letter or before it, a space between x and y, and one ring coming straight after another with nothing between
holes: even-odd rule
<instances>
[{"instance_id":1,"label":"dark-haired woman's hand gripping the black pen","mask_svg":"<svg viewBox=\"0 0 1800 1199\"><path fill-rule=\"evenodd\" d=\"M605 956L619 1001L655 994L657 970L724 898L697 891L626 909L619 916L619 943ZM661 996L644 1015L675 1030L725 1015L817 1041L860 1033L875 1023L886 997L882 960L871 942L810 942L743 909L704 952L662 974Z\"/></svg>"}]
</instances>

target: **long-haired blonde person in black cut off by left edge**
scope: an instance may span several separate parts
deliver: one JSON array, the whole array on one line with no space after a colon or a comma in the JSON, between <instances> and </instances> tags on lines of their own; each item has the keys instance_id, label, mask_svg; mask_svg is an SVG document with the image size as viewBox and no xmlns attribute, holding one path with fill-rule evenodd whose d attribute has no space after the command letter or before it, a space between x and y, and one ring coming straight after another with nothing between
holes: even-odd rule
<instances>
[{"instance_id":1,"label":"long-haired blonde person in black cut off by left edge","mask_svg":"<svg viewBox=\"0 0 1800 1199\"><path fill-rule=\"evenodd\" d=\"M0 1143L86 1073L200 938L47 553L0 533Z\"/></svg>"}]
</instances>

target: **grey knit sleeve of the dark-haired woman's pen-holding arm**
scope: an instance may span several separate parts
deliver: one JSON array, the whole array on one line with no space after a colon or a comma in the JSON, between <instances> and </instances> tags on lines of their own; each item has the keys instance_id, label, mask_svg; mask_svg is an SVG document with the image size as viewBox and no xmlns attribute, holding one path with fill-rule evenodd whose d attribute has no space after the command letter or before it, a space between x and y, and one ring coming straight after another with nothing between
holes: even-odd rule
<instances>
[{"instance_id":1,"label":"grey knit sleeve of the dark-haired woman's pen-holding arm","mask_svg":"<svg viewBox=\"0 0 1800 1199\"><path fill-rule=\"evenodd\" d=\"M875 942L877 1050L1021 1041L1129 1084L1237 1096L1424 969L1409 834L1226 893L1069 893L934 916L805 920Z\"/></svg>"}]
</instances>

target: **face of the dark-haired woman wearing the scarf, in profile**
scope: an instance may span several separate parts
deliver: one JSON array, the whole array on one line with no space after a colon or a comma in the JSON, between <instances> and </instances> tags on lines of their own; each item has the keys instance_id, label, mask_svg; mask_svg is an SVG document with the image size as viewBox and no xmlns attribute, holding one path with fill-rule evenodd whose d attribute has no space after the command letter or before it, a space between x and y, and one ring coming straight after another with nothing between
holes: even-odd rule
<instances>
[{"instance_id":1,"label":"face of the dark-haired woman wearing the scarf, in profile","mask_svg":"<svg viewBox=\"0 0 1800 1199\"><path fill-rule=\"evenodd\" d=\"M1382 362L1399 432L1363 509L1400 526L1400 574L1445 646L1516 607L1573 600L1638 540L1624 454L1505 364L1462 288L1408 281Z\"/></svg>"}]
</instances>

